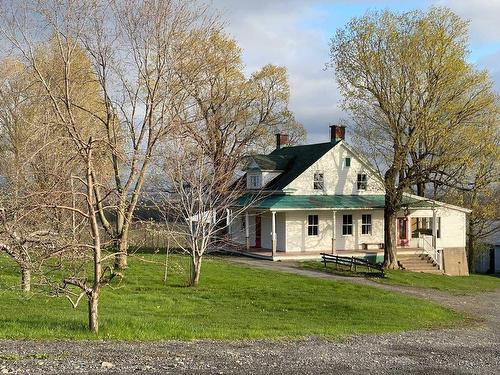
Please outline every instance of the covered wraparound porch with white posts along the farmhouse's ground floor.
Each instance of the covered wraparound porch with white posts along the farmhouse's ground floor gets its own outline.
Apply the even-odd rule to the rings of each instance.
[[[383,195],[269,196],[240,213],[230,236],[239,253],[262,259],[381,258],[383,206]],[[398,253],[433,249],[439,258],[441,217],[432,202],[407,199],[395,224]]]

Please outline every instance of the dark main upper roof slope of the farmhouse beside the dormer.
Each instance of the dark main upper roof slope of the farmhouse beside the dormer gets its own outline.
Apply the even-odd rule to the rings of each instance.
[[[276,161],[279,160],[280,165],[283,166],[281,169],[283,169],[284,172],[267,184],[265,187],[266,190],[284,189],[337,144],[339,144],[339,142],[327,142],[314,145],[283,147],[274,150],[269,155],[265,156],[265,158]]]

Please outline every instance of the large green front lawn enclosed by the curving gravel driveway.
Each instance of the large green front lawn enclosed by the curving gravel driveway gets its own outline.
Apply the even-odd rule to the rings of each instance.
[[[130,259],[120,286],[100,303],[101,339],[339,337],[447,327],[464,315],[436,304],[330,280],[244,268],[207,258],[200,287],[185,287],[187,258],[172,257],[164,285],[162,255]],[[0,256],[0,338],[89,339],[86,305],[13,288],[15,268]]]

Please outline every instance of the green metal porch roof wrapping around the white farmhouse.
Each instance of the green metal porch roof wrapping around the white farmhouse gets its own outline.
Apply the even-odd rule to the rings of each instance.
[[[266,210],[302,209],[364,209],[384,208],[384,195],[269,195],[258,198],[245,195],[238,200],[238,206],[251,204],[252,208]],[[403,204],[419,208],[431,207],[432,203],[404,197]]]

